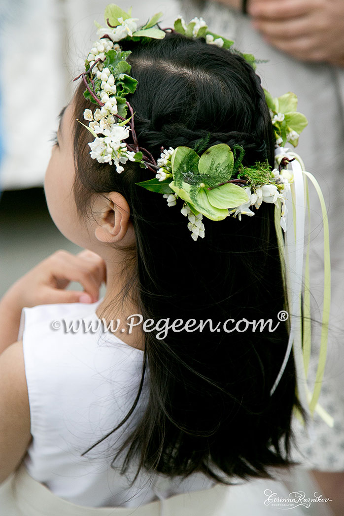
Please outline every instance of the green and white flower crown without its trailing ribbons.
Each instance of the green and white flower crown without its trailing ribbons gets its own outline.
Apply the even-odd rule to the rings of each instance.
[[[194,240],[204,237],[203,216],[210,220],[222,220],[233,215],[253,216],[252,207],[259,208],[262,202],[281,206],[281,226],[286,231],[286,195],[293,181],[292,173],[283,170],[288,159],[282,160],[278,168],[271,169],[268,162],[257,162],[252,167],[242,165],[245,150],[240,146],[231,149],[220,143],[199,154],[188,147],[161,148],[161,156],[155,161],[152,154],[139,146],[137,141],[134,112],[126,100],[135,92],[137,80],[130,76],[127,62],[130,52],[123,52],[119,41],[132,40],[144,43],[148,39],[163,39],[169,31],[192,37],[205,38],[208,44],[231,49],[233,41],[220,37],[208,30],[202,18],[194,18],[187,25],[182,17],[174,22],[173,29],[161,30],[158,21],[162,13],[155,14],[138,29],[136,18],[115,4],[105,9],[106,27],[97,24],[96,41],[86,59],[82,77],[85,97],[98,107],[86,109],[85,127],[94,136],[89,143],[90,155],[99,163],[114,165],[118,173],[123,172],[128,160],[154,172],[149,181],[136,183],[148,190],[161,193],[168,206],[176,205],[181,198],[184,203],[181,213],[188,217],[188,228]],[[231,49],[232,50],[232,49]],[[255,58],[241,54],[253,67]],[[74,80],[76,80],[74,79]],[[297,109],[297,97],[286,93],[273,99],[265,91],[270,110],[276,144],[289,141],[294,147],[307,120]],[[132,134],[133,143],[125,140]]]

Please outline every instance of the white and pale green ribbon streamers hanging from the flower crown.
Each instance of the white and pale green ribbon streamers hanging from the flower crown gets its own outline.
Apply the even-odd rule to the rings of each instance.
[[[281,159],[287,157],[290,163],[294,182],[291,185],[290,192],[287,197],[287,231],[286,240],[282,241],[282,251],[286,267],[286,285],[288,293],[290,331],[288,345],[283,363],[279,374],[272,386],[270,395],[272,396],[279,384],[284,370],[286,368],[291,350],[293,350],[297,379],[298,379],[298,396],[301,404],[309,408],[311,415],[314,411],[323,418],[329,425],[333,426],[333,418],[318,404],[320,396],[321,383],[324,375],[327,337],[330,319],[330,299],[331,299],[331,265],[330,265],[330,239],[329,239],[329,223],[327,220],[325,201],[317,180],[312,174],[304,170],[303,162],[300,156],[290,149],[277,148],[275,151],[275,159],[280,163]],[[322,212],[323,218],[323,234],[324,234],[324,284],[323,284],[323,313],[322,328],[320,338],[319,361],[316,374],[316,381],[313,393],[308,389],[307,373],[311,351],[311,333],[310,333],[310,293],[309,293],[309,243],[310,235],[308,231],[308,243],[306,248],[306,260],[304,257],[305,245],[305,217],[306,208],[309,220],[309,199],[307,179],[314,185]],[[276,208],[278,209],[278,208]],[[291,215],[291,216],[290,216]],[[304,267],[305,261],[305,267]],[[302,320],[303,318],[303,320]],[[302,323],[302,324],[301,324]],[[303,328],[302,328],[303,327]],[[303,331],[302,331],[303,330]]]

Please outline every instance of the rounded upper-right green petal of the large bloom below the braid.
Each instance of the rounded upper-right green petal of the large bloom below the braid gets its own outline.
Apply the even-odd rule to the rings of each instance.
[[[210,176],[225,175],[230,180],[233,172],[234,155],[231,148],[225,143],[219,143],[207,149],[201,156],[198,169],[201,174]],[[222,181],[219,181],[222,182]]]

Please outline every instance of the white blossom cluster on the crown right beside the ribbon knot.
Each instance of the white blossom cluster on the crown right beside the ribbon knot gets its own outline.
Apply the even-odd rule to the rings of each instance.
[[[281,227],[284,231],[286,231],[286,194],[290,190],[290,184],[293,181],[293,176],[292,173],[288,170],[282,170],[279,172],[277,169],[274,169],[272,174],[274,176],[275,184],[269,183],[266,185],[256,185],[252,187],[248,186],[244,188],[245,192],[249,196],[249,201],[231,209],[229,211],[230,215],[233,214],[234,217],[238,217],[239,220],[241,220],[241,215],[248,215],[249,217],[252,217],[254,212],[250,209],[251,206],[259,208],[263,201],[270,204],[277,204],[280,201]]]

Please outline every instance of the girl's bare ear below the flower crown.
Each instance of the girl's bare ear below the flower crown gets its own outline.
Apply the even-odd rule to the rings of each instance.
[[[99,210],[95,237],[104,243],[121,241],[129,228],[130,208],[119,192],[107,194],[104,206]]]

